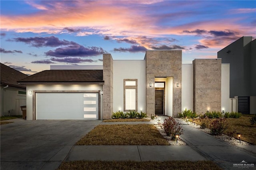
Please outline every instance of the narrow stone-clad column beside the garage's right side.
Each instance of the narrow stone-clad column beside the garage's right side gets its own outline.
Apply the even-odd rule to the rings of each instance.
[[[113,58],[103,54],[103,119],[110,119],[113,112]]]

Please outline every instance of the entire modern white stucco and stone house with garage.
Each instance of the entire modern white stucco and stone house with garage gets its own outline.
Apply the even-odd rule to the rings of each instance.
[[[181,50],[146,51],[144,60],[113,60],[103,66],[51,66],[18,81],[27,87],[27,120],[110,119],[137,110],[177,117],[231,111],[229,64],[195,59],[182,64]]]

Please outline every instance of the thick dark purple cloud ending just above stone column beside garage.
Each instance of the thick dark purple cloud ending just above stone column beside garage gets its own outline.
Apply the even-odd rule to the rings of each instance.
[[[66,47],[59,47],[54,50],[47,51],[45,54],[47,56],[53,57],[70,57],[70,56],[80,56],[80,57],[88,57],[88,56],[96,56],[102,53],[106,53],[102,47],[84,47],[77,43],[73,45],[68,45]]]

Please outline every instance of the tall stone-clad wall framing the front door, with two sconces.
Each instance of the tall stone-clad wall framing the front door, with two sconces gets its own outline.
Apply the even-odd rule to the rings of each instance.
[[[155,114],[155,77],[173,77],[173,117],[181,112],[182,51],[146,51],[146,113]],[[152,83],[152,87],[149,87]],[[176,86],[179,83],[179,87]]]

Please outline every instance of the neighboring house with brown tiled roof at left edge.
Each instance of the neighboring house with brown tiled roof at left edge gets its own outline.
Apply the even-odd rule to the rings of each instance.
[[[18,85],[17,80],[28,75],[0,63],[1,116],[22,115],[20,106],[26,106],[26,86]]]

